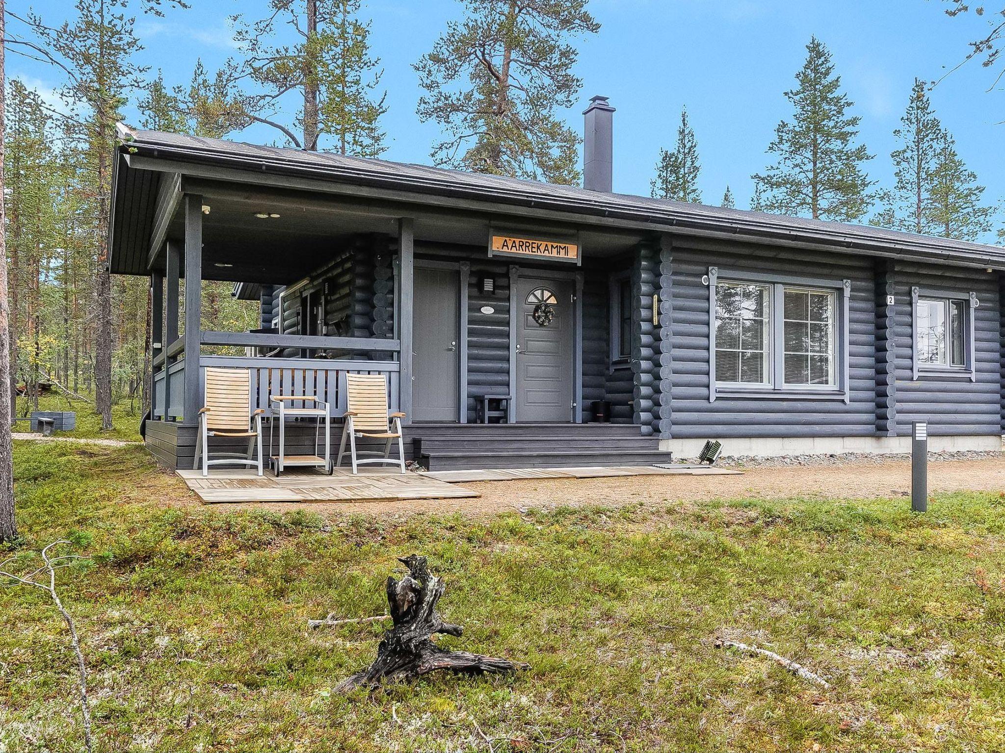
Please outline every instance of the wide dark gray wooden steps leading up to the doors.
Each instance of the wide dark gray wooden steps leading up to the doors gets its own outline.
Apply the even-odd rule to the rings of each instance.
[[[405,434],[430,471],[637,466],[670,461],[628,424],[414,424]]]

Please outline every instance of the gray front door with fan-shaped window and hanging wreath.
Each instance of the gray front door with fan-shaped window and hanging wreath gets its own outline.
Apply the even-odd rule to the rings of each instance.
[[[573,285],[517,281],[517,421],[572,421]]]

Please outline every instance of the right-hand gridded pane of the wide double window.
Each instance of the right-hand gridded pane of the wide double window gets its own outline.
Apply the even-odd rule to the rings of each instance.
[[[834,293],[785,289],[785,384],[836,385]]]

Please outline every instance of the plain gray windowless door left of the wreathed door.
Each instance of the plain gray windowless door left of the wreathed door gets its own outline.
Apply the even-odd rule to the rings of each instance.
[[[412,421],[456,421],[460,278],[416,267],[414,284]]]

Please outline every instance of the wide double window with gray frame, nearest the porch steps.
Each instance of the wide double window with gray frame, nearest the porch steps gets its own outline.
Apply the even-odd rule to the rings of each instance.
[[[712,303],[710,401],[719,395],[850,400],[850,281],[720,276],[710,267],[702,282]]]

